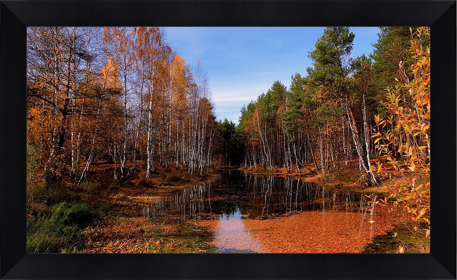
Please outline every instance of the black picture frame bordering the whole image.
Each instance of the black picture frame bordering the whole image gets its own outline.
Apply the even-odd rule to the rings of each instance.
[[[1,279],[456,279],[455,0],[0,2]],[[27,26],[431,26],[431,253],[26,254]]]

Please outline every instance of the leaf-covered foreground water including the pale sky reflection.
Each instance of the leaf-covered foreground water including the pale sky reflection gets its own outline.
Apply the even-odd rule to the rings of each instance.
[[[248,218],[198,223],[214,231],[213,245],[219,248],[263,253],[359,253],[374,236],[392,228],[392,221],[387,216],[382,212],[376,215],[376,225],[364,223],[367,214],[341,212],[305,212],[265,220]]]

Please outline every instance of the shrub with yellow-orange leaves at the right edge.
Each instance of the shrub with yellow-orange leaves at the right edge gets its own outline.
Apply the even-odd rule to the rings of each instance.
[[[428,46],[424,46],[428,42]],[[410,52],[414,78],[387,93],[384,105],[391,116],[375,117],[377,149],[394,166],[387,173],[382,165],[378,173],[390,176],[386,186],[394,207],[403,207],[413,224],[414,236],[430,238],[430,28],[411,30]],[[402,65],[399,65],[402,68]],[[410,226],[411,227],[411,226]],[[409,228],[410,228],[409,227]],[[417,234],[417,235],[416,235]]]

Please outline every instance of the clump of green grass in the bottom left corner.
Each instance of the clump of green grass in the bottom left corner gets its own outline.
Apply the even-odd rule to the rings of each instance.
[[[27,253],[75,252],[80,231],[98,216],[86,202],[61,202],[47,214],[27,220]]]

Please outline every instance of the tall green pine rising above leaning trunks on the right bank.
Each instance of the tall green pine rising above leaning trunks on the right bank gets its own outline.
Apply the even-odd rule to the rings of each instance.
[[[349,27],[327,27],[324,34],[317,40],[315,49],[309,53],[313,60],[314,67],[308,67],[310,84],[321,100],[321,120],[326,127],[319,127],[319,139],[329,138],[332,128],[328,124],[335,123],[338,119],[339,109],[345,111],[346,120],[351,128],[351,135],[354,146],[359,156],[361,170],[367,174],[367,182],[377,182],[376,176],[372,173],[369,157],[369,143],[365,140],[368,135],[368,128],[365,121],[357,118],[355,104],[351,100],[351,67],[350,59],[354,33]],[[335,106],[336,105],[336,106]],[[341,112],[341,111],[340,111]],[[332,114],[333,113],[333,114]],[[324,130],[324,132],[323,132]],[[327,141],[329,143],[330,140]],[[320,140],[322,143],[322,140]],[[329,165],[329,144],[319,146],[320,161],[322,169]]]

